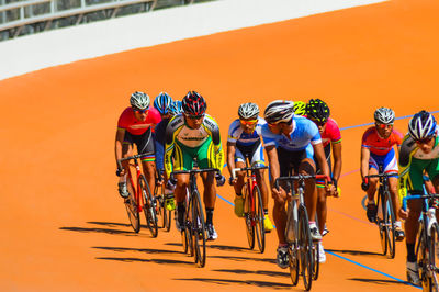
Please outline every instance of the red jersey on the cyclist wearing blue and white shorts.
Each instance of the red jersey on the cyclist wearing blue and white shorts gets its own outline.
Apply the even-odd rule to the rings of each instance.
[[[399,146],[403,142],[403,134],[399,131],[393,128],[391,135],[383,139],[378,134],[374,126],[369,127],[361,141],[361,147],[369,148],[371,153],[375,155],[386,155],[393,147],[393,145]]]

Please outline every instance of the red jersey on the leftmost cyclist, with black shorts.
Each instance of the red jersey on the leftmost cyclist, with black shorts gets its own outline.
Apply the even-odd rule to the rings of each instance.
[[[126,108],[119,117],[117,127],[124,128],[133,135],[142,135],[149,127],[154,128],[158,123],[160,123],[160,113],[154,108],[149,108],[148,115],[146,116],[145,121],[138,121],[134,116],[133,109],[130,106]]]

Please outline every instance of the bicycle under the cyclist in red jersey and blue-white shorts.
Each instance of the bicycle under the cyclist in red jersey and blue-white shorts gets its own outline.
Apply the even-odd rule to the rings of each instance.
[[[389,257],[391,259],[395,258],[396,254],[396,235],[395,235],[395,221],[396,216],[394,213],[391,192],[389,190],[389,177],[395,175],[383,173],[382,167],[380,166],[379,175],[370,175],[364,178],[379,178],[380,187],[378,189],[376,198],[376,225],[380,232],[381,247],[383,249],[383,255],[385,256],[389,251]]]

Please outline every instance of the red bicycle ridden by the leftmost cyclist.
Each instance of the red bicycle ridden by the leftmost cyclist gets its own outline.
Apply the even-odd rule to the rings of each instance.
[[[136,184],[134,184],[131,170],[127,169],[126,189],[130,193],[128,198],[125,199],[126,213],[128,214],[131,226],[135,233],[140,231],[140,216],[139,213],[145,213],[146,224],[149,228],[151,236],[157,237],[157,216],[155,200],[151,196],[148,182],[146,181],[145,175],[142,173],[138,164],[138,158],[142,155],[133,155],[122,159],[117,159],[117,175],[122,171],[122,161],[133,160],[136,169]],[[133,166],[133,165],[131,165]]]

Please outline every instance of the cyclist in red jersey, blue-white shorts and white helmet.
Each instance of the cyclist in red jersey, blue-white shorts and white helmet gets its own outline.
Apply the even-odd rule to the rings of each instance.
[[[363,182],[361,188],[368,193],[367,216],[370,222],[376,221],[378,207],[375,204],[375,191],[378,178],[364,178],[367,175],[376,175],[380,167],[384,173],[391,175],[389,178],[389,189],[391,192],[392,204],[396,217],[395,236],[396,240],[404,239],[404,231],[399,221],[397,210],[399,210],[399,201],[397,200],[397,160],[394,145],[398,150],[403,139],[403,135],[393,127],[395,113],[392,109],[380,108],[374,112],[375,125],[369,127],[361,141],[361,177]]]

